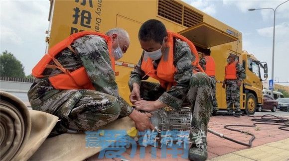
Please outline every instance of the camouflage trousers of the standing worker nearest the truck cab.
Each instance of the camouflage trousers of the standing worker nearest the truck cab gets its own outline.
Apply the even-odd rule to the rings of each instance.
[[[233,113],[233,104],[235,112],[241,114],[240,110],[240,87],[237,80],[226,80],[226,102],[228,113]]]

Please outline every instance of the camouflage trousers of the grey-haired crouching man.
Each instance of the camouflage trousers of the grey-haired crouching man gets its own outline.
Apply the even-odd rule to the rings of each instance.
[[[32,109],[56,115],[61,119],[51,132],[51,136],[96,131],[127,115],[127,111],[121,110],[123,105],[128,105],[126,101],[96,90],[60,90],[41,101],[31,96],[29,98],[32,99],[30,99]]]

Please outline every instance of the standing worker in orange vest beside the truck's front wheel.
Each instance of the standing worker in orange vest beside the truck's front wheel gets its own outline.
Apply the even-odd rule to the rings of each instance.
[[[235,117],[240,117],[242,115],[240,110],[240,86],[242,85],[242,81],[246,78],[246,73],[243,66],[236,60],[236,55],[229,55],[227,62],[227,67],[231,65],[233,66],[231,68],[234,68],[234,70],[225,70],[225,80],[223,82],[223,88],[226,87],[227,115],[233,114],[234,104]],[[230,76],[233,77],[230,78]],[[226,79],[226,77],[228,78]]]

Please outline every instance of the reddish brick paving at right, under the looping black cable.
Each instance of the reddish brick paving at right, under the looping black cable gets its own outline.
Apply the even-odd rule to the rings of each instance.
[[[250,135],[230,131],[224,129],[223,127],[224,125],[229,124],[253,125],[253,123],[257,123],[251,121],[251,119],[252,117],[246,116],[240,118],[234,118],[229,116],[215,116],[211,118],[209,122],[209,128],[214,131],[220,132],[227,137],[240,140],[243,143],[248,143],[248,141],[251,139]],[[279,126],[277,125],[257,125],[257,127],[234,127],[234,129],[239,129],[254,134],[256,136],[256,139],[253,141],[252,147],[257,147],[267,143],[272,143],[289,138],[289,131],[280,130],[278,129],[278,127]],[[209,159],[244,149],[248,149],[249,151],[251,151],[252,148],[245,147],[225,139],[221,139],[213,134],[208,133]]]

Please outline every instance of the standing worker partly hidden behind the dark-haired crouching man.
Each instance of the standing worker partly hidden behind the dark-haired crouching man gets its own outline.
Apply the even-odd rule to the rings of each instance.
[[[212,111],[212,114],[214,116],[216,116],[218,114],[219,108],[218,108],[218,102],[216,99],[215,61],[214,60],[211,61],[211,59],[213,59],[213,57],[211,57],[211,50],[210,49],[205,49],[203,53],[204,54],[203,54],[202,58],[200,59],[199,64],[202,67],[202,69],[205,71],[205,73],[213,81],[213,111]],[[208,59],[208,57],[209,57],[209,59]],[[211,61],[211,62],[208,62],[208,64],[210,63],[210,66],[208,66],[209,68],[211,68],[211,69],[208,69],[210,71],[208,71],[206,69],[206,66],[208,65],[206,59]]]

